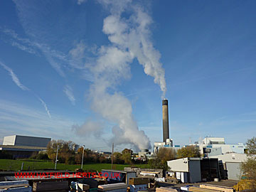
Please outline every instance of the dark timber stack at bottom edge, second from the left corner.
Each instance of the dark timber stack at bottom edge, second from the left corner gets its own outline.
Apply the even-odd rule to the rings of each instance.
[[[66,192],[68,191],[68,181],[34,182],[33,191]]]

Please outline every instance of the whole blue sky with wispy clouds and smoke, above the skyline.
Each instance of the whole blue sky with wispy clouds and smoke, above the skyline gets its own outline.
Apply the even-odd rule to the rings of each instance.
[[[256,135],[256,1],[0,1],[0,143],[100,151]]]

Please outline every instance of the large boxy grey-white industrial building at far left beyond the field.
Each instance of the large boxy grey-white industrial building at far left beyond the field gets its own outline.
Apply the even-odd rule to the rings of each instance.
[[[11,154],[13,158],[28,158],[34,153],[46,150],[50,138],[11,135],[4,137],[0,151]]]

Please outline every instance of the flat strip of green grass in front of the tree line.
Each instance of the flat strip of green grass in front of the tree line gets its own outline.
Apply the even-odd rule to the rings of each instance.
[[[41,169],[54,169],[55,164],[50,161],[22,161],[22,160],[10,160],[0,159],[0,169],[4,171],[18,171],[21,170],[21,164],[23,164],[23,170],[41,170]],[[124,167],[131,165],[114,164],[114,169],[123,170]],[[141,168],[149,168],[147,164],[136,164],[134,166]],[[68,164],[57,164],[58,170],[70,170],[81,168],[81,165],[68,165]],[[111,164],[83,164],[84,170],[97,170],[111,169]]]

